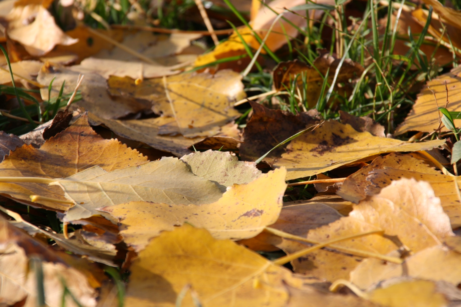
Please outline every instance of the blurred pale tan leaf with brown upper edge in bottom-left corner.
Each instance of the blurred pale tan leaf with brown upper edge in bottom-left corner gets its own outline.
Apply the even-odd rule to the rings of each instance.
[[[84,306],[96,306],[97,293],[93,289],[82,268],[70,267],[53,251],[47,249],[32,237],[11,226],[0,217],[0,302],[12,306],[25,299],[24,306],[36,306],[35,272],[29,268],[29,257],[41,255],[43,259],[43,282],[47,305],[61,306],[64,280],[67,288]],[[87,272],[88,273],[88,272]],[[77,307],[69,295],[65,298],[66,306]]]

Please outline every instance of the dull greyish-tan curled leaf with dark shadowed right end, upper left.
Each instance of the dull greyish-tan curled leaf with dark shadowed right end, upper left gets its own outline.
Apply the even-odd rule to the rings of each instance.
[[[50,84],[54,78],[51,98],[55,98],[58,96],[64,81],[63,93],[73,93],[77,85],[78,75],[78,72],[70,69],[45,64],[38,74],[37,81],[41,84]],[[102,118],[115,119],[150,109],[148,102],[109,96],[106,79],[98,74],[85,74],[79,90],[82,93],[82,100],[71,104],[71,110],[80,106]],[[40,93],[43,100],[48,100],[48,88],[41,88]]]

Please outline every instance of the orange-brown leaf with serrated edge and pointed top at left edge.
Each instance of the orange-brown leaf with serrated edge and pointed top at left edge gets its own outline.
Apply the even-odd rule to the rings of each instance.
[[[99,165],[106,171],[148,162],[138,151],[127,148],[117,140],[103,139],[89,126],[83,115],[70,127],[48,139],[40,149],[23,145],[0,163],[3,177],[65,178]],[[39,183],[0,183],[0,193],[21,201],[30,195],[66,200],[58,186]],[[38,201],[47,208],[66,210],[69,205]]]

